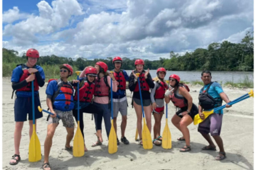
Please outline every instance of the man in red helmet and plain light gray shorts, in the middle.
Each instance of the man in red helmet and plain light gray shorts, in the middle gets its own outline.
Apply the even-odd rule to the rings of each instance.
[[[121,57],[113,58],[114,65],[114,76],[116,81],[119,83],[117,86],[117,92],[113,92],[113,124],[115,131],[117,129],[116,119],[118,112],[122,115],[122,123],[121,123],[121,142],[124,144],[129,144],[129,141],[124,136],[126,123],[127,123],[127,98],[126,98],[126,81],[129,81],[129,76],[125,70],[121,70],[121,66],[123,64],[123,60]],[[116,131],[117,134],[117,131]],[[117,144],[119,145],[119,140],[117,138]]]

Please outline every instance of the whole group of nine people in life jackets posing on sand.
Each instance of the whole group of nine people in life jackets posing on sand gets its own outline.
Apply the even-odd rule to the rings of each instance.
[[[15,154],[10,160],[11,165],[16,165],[20,161],[19,146],[21,140],[21,131],[24,121],[29,119],[29,136],[31,138],[33,130],[32,121],[32,88],[31,82],[34,81],[34,105],[35,108],[41,106],[39,100],[39,87],[45,84],[45,75],[43,68],[36,65],[39,58],[39,52],[31,48],[26,53],[27,62],[17,65],[12,72],[12,88],[16,94],[14,104],[15,130],[14,130],[14,147]],[[129,89],[133,92],[132,106],[135,109],[137,116],[137,130],[139,134],[139,144],[142,145],[142,106],[140,99],[140,91],[142,94],[142,104],[145,112],[145,119],[148,129],[151,132],[151,114],[155,119],[153,127],[154,138],[153,143],[157,146],[161,145],[162,136],[161,119],[164,114],[164,102],[170,101],[178,109],[172,117],[173,125],[178,128],[183,136],[178,138],[180,141],[185,141],[186,144],[180,149],[181,152],[191,150],[190,135],[188,125],[193,122],[196,114],[199,113],[201,119],[204,118],[203,111],[212,110],[222,104],[222,100],[226,103],[230,102],[227,95],[223,92],[220,84],[211,81],[211,72],[203,71],[201,79],[204,82],[204,87],[200,90],[199,106],[193,103],[193,99],[189,94],[189,87],[180,82],[180,77],[176,74],[169,76],[169,84],[164,81],[166,76],[165,68],[157,69],[157,75],[152,78],[149,69],[144,70],[144,61],[142,59],[135,60],[135,70],[128,76],[125,70],[122,70],[123,60],[121,57],[113,58],[114,70],[108,72],[108,66],[104,62],[97,62],[95,66],[87,66],[81,72],[79,80],[68,81],[68,77],[73,74],[73,68],[69,64],[60,65],[60,78],[50,79],[46,88],[46,104],[52,115],[47,118],[47,136],[44,142],[44,163],[43,169],[51,169],[49,164],[49,154],[52,146],[52,138],[59,121],[62,120],[63,126],[67,130],[65,150],[72,151],[70,142],[74,136],[74,119],[77,120],[80,116],[80,129],[84,137],[83,129],[83,113],[91,113],[94,116],[95,130],[97,140],[93,143],[94,146],[101,145],[102,137],[102,119],[104,119],[107,137],[111,128],[111,110],[110,110],[110,94],[111,94],[111,79],[113,91],[113,125],[117,132],[117,116],[120,112],[122,115],[121,123],[121,142],[129,144],[125,137],[125,129],[127,124],[127,97],[126,97],[126,81],[129,81]],[[136,74],[139,73],[139,74]],[[138,75],[138,76],[137,76]],[[138,83],[138,78],[139,82]],[[79,83],[79,96],[77,95],[77,83]],[[140,86],[140,88],[139,88]],[[139,90],[140,89],[140,90]],[[75,91],[75,93],[74,93]],[[79,99],[79,101],[78,101]],[[79,109],[77,108],[79,102]],[[226,107],[231,107],[226,105]],[[57,117],[58,115],[58,117]],[[219,146],[220,152],[216,156],[216,160],[222,160],[226,157],[223,148],[223,142],[220,137],[222,125],[223,111],[218,111],[207,117],[198,126],[198,131],[208,141],[209,145],[203,147],[203,150],[216,150],[209,133],[215,139]],[[35,119],[42,118],[42,112],[35,109]],[[36,121],[35,121],[36,123]],[[117,144],[120,141],[117,137]],[[87,148],[84,144],[84,150]]]

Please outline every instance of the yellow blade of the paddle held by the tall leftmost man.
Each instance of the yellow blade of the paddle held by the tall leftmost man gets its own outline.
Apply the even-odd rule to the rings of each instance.
[[[37,162],[42,159],[41,156],[41,145],[40,141],[36,134],[36,126],[33,125],[33,132],[32,136],[29,142],[29,148],[28,148],[28,161],[29,162]]]

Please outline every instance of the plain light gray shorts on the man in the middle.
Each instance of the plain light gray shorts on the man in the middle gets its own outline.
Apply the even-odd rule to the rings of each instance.
[[[119,101],[119,102],[118,102]],[[122,116],[127,115],[127,98],[125,97],[124,99],[113,99],[113,115],[114,118],[117,117],[118,112],[121,113]]]

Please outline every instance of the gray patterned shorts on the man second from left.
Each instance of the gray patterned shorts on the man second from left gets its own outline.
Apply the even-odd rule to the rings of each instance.
[[[71,111],[67,111],[67,112],[63,112],[63,111],[59,111],[59,110],[55,110],[54,112],[60,117],[49,117],[48,119],[48,125],[52,124],[52,123],[56,123],[59,124],[59,121],[62,120],[63,126],[66,128],[74,128],[75,127],[75,123],[74,123],[74,118],[73,118],[73,113],[72,110]]]

